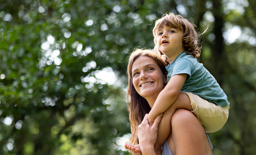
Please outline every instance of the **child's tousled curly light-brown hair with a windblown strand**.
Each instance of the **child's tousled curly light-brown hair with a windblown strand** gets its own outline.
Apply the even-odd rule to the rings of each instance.
[[[166,13],[162,16],[162,18],[158,19],[155,22],[155,26],[153,29],[154,35],[154,50],[156,53],[160,55],[164,55],[157,46],[156,38],[158,36],[158,31],[163,27],[163,25],[170,26],[173,28],[178,28],[183,32],[183,47],[185,52],[193,57],[199,57],[201,54],[202,46],[198,46],[198,36],[194,27],[195,25],[189,22],[187,19],[183,18],[181,15],[175,15],[173,13]],[[207,29],[206,29],[207,30]],[[206,32],[205,30],[205,32]],[[204,32],[204,33],[205,33]],[[203,33],[202,33],[203,34]]]

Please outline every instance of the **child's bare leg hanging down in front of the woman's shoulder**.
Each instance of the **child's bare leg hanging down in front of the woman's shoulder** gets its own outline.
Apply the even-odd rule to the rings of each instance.
[[[175,100],[175,102],[164,112],[164,116],[159,123],[157,140],[154,146],[157,155],[161,154],[161,146],[171,133],[171,119],[177,109],[186,109],[188,111],[192,111],[190,99],[184,92],[180,92],[177,100]]]

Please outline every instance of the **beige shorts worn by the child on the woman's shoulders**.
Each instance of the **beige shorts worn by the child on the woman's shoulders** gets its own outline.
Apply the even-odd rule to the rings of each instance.
[[[230,106],[221,107],[218,104],[208,102],[198,95],[185,92],[190,99],[192,113],[202,123],[205,132],[213,133],[220,130],[227,122]]]

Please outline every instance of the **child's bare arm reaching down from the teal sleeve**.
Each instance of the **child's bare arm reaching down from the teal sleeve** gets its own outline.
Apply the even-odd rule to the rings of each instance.
[[[165,112],[178,98],[187,76],[187,74],[177,74],[170,78],[166,87],[159,93],[151,111],[149,112],[149,124],[152,124],[156,116]]]

